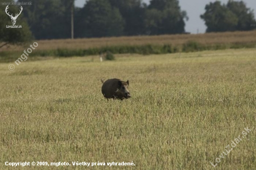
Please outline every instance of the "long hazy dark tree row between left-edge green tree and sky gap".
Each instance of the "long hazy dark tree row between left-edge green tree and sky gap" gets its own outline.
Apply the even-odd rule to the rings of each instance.
[[[70,38],[74,0],[31,1],[23,14],[36,39]],[[178,0],[87,0],[74,8],[74,38],[184,33],[186,18]]]

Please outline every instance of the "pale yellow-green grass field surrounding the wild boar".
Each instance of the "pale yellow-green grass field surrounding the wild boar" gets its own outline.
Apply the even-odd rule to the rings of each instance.
[[[40,48],[49,48],[45,42]],[[90,45],[71,48],[83,46]],[[256,49],[116,58],[27,60],[12,72],[13,63],[0,63],[0,169],[41,161],[71,165],[29,168],[256,170]],[[132,98],[104,99],[101,78],[129,79]],[[243,140],[222,154],[239,135]]]

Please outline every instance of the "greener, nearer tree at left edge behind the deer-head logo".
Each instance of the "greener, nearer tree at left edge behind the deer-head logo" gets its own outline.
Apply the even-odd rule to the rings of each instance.
[[[5,0],[0,0],[0,2],[6,2]],[[7,5],[0,6],[0,48],[8,44],[22,44],[30,41],[33,37],[29,30],[26,20],[23,18],[23,14],[20,13],[16,20],[16,26],[22,26],[22,28],[7,28],[7,25],[12,25],[10,17],[5,13]],[[13,16],[15,13],[19,13],[20,7],[18,6],[8,6],[8,12]]]

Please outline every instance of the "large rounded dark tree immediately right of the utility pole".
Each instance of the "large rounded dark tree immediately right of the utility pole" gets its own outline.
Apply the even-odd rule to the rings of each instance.
[[[80,37],[109,37],[123,35],[124,20],[108,0],[88,0],[81,9],[78,26]]]

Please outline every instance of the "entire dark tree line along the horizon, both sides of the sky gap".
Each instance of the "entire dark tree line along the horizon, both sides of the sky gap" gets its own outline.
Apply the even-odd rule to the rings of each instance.
[[[150,0],[149,5],[142,0],[87,0],[82,8],[74,7],[74,0],[30,1],[32,5],[23,6],[17,20],[22,29],[3,27],[11,22],[6,6],[0,6],[0,42],[70,38],[72,10],[74,38],[185,33],[185,20],[189,20],[179,0]],[[18,13],[19,6],[8,10]],[[256,29],[254,12],[243,1],[210,2],[200,17],[206,32]]]

